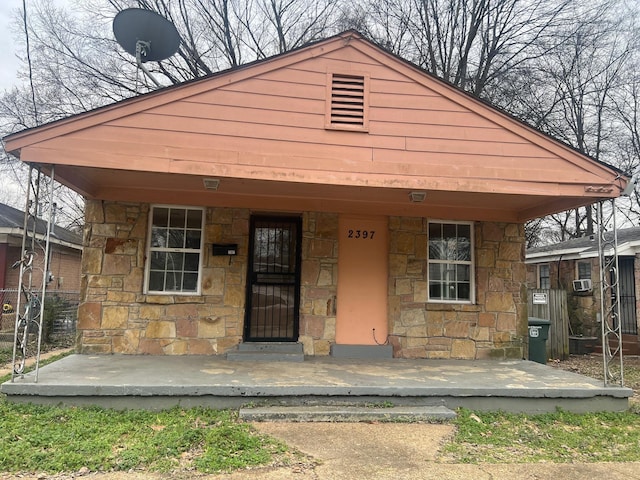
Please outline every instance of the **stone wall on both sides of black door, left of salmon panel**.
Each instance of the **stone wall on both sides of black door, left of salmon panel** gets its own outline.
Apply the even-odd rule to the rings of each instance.
[[[82,353],[223,354],[242,340],[250,211],[208,208],[202,295],[144,295],[149,205],[88,200],[78,349]],[[303,216],[300,341],[335,339],[337,215]],[[213,256],[212,243],[238,255]]]

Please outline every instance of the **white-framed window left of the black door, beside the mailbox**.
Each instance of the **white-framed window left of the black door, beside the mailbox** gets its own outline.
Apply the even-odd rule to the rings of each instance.
[[[149,216],[145,292],[199,294],[203,209],[154,205]]]

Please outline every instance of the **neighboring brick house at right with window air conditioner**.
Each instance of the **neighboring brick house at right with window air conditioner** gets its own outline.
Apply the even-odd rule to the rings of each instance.
[[[612,232],[607,232],[607,241]],[[637,343],[640,286],[640,227],[618,230],[621,330]],[[606,253],[606,252],[605,252]],[[531,248],[526,253],[530,288],[566,290],[569,322],[575,335],[599,336],[600,266],[597,236]],[[635,339],[633,338],[635,336]]]

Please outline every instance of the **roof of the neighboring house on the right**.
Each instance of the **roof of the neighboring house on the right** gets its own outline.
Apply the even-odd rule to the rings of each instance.
[[[618,255],[635,255],[640,253],[640,227],[619,229]],[[613,240],[613,232],[605,232],[606,242]],[[597,235],[572,238],[564,242],[530,248],[526,252],[527,263],[545,263],[559,260],[575,260],[595,258],[598,253]]]

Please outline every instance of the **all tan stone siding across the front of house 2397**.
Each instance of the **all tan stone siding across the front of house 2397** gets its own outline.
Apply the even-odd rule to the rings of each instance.
[[[248,209],[207,208],[201,295],[145,295],[149,205],[87,201],[78,315],[82,353],[224,354],[242,341]],[[307,355],[335,343],[338,214],[302,219],[300,336]],[[526,338],[524,227],[475,226],[477,302],[427,302],[427,220],[389,221],[389,325],[405,358],[521,358]],[[213,256],[212,243],[238,244]]]

